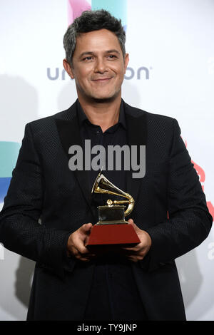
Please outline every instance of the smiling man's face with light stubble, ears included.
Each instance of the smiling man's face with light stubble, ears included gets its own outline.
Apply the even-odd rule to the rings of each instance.
[[[121,94],[128,66],[118,38],[106,29],[81,33],[76,38],[72,68],[64,60],[66,71],[76,81],[78,97],[84,100],[116,98]]]

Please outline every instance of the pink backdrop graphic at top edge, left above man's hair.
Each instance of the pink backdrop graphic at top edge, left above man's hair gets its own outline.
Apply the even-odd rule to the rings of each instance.
[[[86,0],[68,0],[68,26],[81,16],[83,11],[90,11],[91,4]]]

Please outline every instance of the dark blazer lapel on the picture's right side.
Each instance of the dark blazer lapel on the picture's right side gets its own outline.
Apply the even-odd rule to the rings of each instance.
[[[142,110],[135,111],[130,105],[124,103],[126,113],[126,125],[128,128],[128,145],[146,145],[146,113]],[[145,158],[146,159],[146,158]],[[146,165],[146,162],[145,162]],[[130,164],[131,166],[131,164]],[[138,198],[139,187],[143,178],[133,178],[133,170],[127,171],[127,192],[135,201]]]

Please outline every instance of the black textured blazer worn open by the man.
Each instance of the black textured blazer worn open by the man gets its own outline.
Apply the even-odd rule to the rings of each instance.
[[[184,320],[174,259],[208,236],[213,218],[178,122],[124,103],[129,145],[146,145],[146,175],[127,192],[131,218],[151,235],[145,259],[133,263],[148,319]],[[0,242],[36,262],[29,320],[81,320],[93,280],[93,262],[66,257],[68,236],[97,222],[87,172],[68,168],[68,148],[81,145],[76,103],[25,128],[19,158],[0,213]]]

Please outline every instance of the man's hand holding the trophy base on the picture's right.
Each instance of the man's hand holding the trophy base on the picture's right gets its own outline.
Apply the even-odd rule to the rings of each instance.
[[[151,248],[151,237],[149,236],[148,232],[138,228],[132,219],[128,220],[128,224],[133,226],[139,239],[141,240],[141,243],[138,243],[135,247],[131,248],[123,247],[123,250],[125,250],[125,254],[128,259],[133,262],[138,262],[146,256],[149,249]]]

